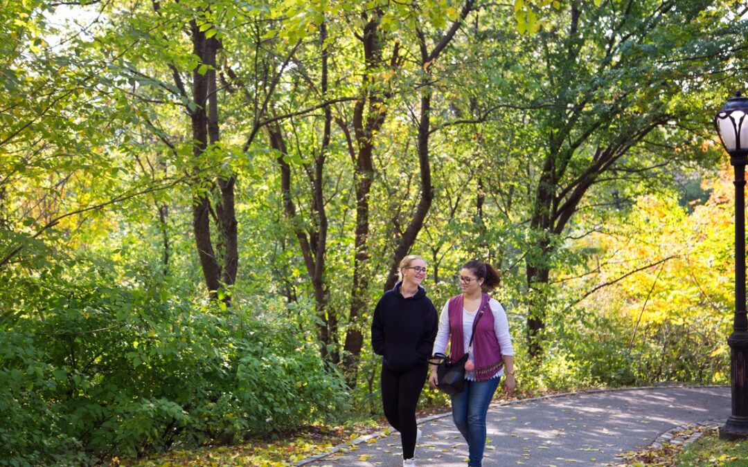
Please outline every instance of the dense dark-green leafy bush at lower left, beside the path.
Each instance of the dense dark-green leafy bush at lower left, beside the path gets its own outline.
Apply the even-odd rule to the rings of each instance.
[[[282,312],[183,300],[147,265],[119,283],[108,261],[69,266],[67,279],[39,275],[34,300],[1,296],[19,318],[0,329],[0,464],[237,442],[346,406],[340,374]]]

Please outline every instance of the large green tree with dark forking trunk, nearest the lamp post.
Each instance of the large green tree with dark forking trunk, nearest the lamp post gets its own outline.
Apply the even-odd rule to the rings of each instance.
[[[525,123],[524,140],[512,152],[529,162],[533,180],[530,206],[517,206],[529,221],[532,355],[541,351],[554,254],[574,215],[616,205],[616,187],[654,188],[668,177],[662,167],[701,158],[693,148],[711,137],[705,99],[715,96],[717,108],[735,85],[730,70],[741,67],[734,53],[746,23],[723,21],[731,17],[712,1],[571,1],[521,40],[532,52],[512,55],[517,64],[496,86],[497,95],[511,87],[527,102],[515,119]]]

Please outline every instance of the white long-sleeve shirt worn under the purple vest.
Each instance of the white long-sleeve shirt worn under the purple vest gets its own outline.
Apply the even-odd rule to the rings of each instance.
[[[506,318],[506,312],[504,307],[501,306],[497,300],[491,298],[488,301],[488,308],[491,309],[491,313],[494,315],[494,334],[496,340],[501,347],[501,354],[506,356],[514,356],[514,348],[512,347],[512,336],[509,335],[509,320]],[[468,351],[468,344],[470,343],[470,337],[473,335],[473,321],[475,321],[478,315],[478,310],[474,312],[468,312],[465,308],[462,309],[462,338],[465,340],[462,343],[462,348]],[[481,318],[483,319],[483,318]],[[439,330],[436,334],[436,340],[434,341],[434,353],[445,353],[447,350],[447,343],[450,341],[450,301],[444,303],[444,308],[441,309],[441,315],[439,316]],[[470,352],[470,362],[475,365],[475,359],[473,352]],[[504,373],[503,368],[492,378],[500,377]],[[466,371],[465,379],[475,381],[475,371]]]

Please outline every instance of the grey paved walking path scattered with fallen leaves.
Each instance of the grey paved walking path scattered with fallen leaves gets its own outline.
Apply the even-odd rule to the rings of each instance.
[[[685,424],[724,421],[728,387],[662,387],[582,392],[494,403],[488,410],[484,467],[616,466],[616,455],[646,448]],[[417,465],[465,466],[468,445],[450,413],[419,421]],[[354,443],[352,443],[354,444]],[[343,452],[345,451],[345,452]],[[370,436],[305,466],[402,466],[399,433]]]

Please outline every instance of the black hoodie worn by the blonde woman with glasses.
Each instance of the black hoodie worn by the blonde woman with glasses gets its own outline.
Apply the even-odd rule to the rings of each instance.
[[[382,365],[392,371],[409,371],[426,367],[439,319],[425,288],[419,285],[413,297],[405,298],[400,285],[384,292],[374,309],[372,347],[384,357]]]

